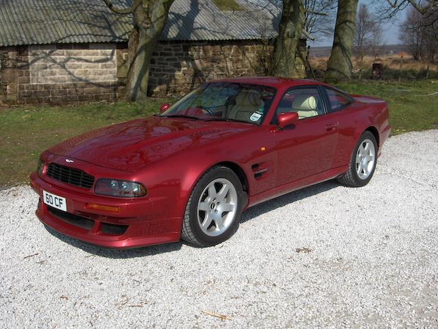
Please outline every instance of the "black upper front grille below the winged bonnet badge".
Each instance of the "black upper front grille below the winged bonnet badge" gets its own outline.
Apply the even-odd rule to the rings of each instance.
[[[94,177],[88,173],[53,162],[47,165],[46,175],[54,180],[87,189],[91,188],[94,183]]]

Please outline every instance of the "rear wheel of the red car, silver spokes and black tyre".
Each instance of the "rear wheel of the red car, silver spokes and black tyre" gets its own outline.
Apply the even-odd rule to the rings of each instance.
[[[345,186],[360,187],[369,183],[377,162],[376,137],[365,131],[356,143],[348,164],[348,170],[336,180]]]

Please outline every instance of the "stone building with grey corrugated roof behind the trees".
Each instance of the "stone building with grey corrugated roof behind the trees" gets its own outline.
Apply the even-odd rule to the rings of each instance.
[[[151,60],[151,95],[268,74],[280,10],[267,0],[235,2],[237,10],[216,1],[174,2]],[[122,94],[132,16],[111,12],[102,0],[2,0],[0,13],[0,103],[114,101]],[[296,67],[304,77],[300,59]]]

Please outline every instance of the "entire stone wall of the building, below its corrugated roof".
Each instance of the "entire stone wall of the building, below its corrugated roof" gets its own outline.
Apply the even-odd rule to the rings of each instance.
[[[0,103],[115,101],[128,72],[127,45],[0,47]],[[300,45],[305,51],[305,42]],[[272,46],[260,41],[160,42],[150,95],[181,95],[222,77],[269,75]],[[296,77],[306,70],[297,58]]]

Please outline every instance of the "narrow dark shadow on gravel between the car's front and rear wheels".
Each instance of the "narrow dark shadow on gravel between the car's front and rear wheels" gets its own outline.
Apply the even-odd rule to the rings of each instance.
[[[285,195],[281,195],[276,197],[275,199],[270,199],[262,204],[257,204],[257,206],[253,206],[246,210],[242,214],[242,219],[240,223],[244,223],[253,219],[255,217],[259,217],[266,212],[270,212],[271,210],[286,206],[288,204],[292,204],[292,202],[299,201],[301,199],[306,199],[306,197],[312,197],[313,195],[317,195],[319,193],[323,193],[325,191],[330,191],[332,188],[338,187],[339,184],[335,180],[328,180],[327,182],[322,182],[316,185],[308,186],[306,188],[301,188],[300,190],[290,192]]]

